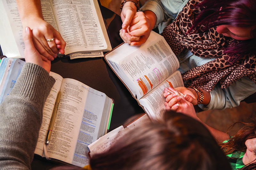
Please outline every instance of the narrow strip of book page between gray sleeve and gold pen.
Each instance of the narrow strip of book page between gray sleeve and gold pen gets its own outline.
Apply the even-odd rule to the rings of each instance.
[[[36,150],[34,152],[35,154],[40,156],[43,156],[44,153],[44,143],[46,140],[46,135],[51,122],[54,104],[57,99],[58,92],[60,91],[60,86],[63,79],[59,74],[53,72],[50,72],[50,76],[52,76],[56,80],[56,82],[54,83],[50,94],[48,95],[44,103],[42,124],[39,130]]]

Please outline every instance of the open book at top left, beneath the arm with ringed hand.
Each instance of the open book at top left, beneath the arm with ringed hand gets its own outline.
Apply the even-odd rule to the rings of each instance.
[[[97,0],[41,0],[44,20],[60,32],[70,59],[103,56],[111,50]],[[0,44],[4,55],[24,58],[22,24],[16,1],[0,1]]]

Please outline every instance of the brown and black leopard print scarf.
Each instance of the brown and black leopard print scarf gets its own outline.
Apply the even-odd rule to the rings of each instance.
[[[185,86],[197,86],[206,91],[212,91],[220,82],[221,88],[226,88],[236,80],[247,76],[256,84],[256,56],[246,55],[232,65],[229,56],[223,54],[223,48],[237,40],[217,33],[216,27],[208,31],[198,29],[197,33],[186,35],[193,25],[194,17],[200,12],[190,9],[190,6],[202,0],[190,0],[180,12],[175,21],[164,28],[162,35],[173,52],[177,55],[185,48],[200,57],[216,57],[208,63],[192,68],[182,74]]]

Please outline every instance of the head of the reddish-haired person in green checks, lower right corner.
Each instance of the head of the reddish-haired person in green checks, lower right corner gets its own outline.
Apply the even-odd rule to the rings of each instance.
[[[226,154],[234,151],[245,152],[243,170],[256,169],[256,121],[253,123],[242,123],[244,126],[236,133],[232,140],[222,143],[222,150]]]

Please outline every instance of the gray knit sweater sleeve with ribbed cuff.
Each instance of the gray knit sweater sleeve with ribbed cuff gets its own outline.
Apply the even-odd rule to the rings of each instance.
[[[31,169],[44,102],[54,83],[42,67],[24,64],[0,105],[0,169]]]

